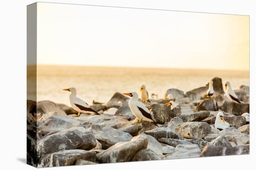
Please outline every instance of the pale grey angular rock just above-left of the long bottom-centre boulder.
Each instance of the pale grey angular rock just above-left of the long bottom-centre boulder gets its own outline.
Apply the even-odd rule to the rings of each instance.
[[[102,149],[108,149],[118,142],[125,142],[132,139],[132,135],[112,127],[95,128],[92,126],[94,137],[101,143]]]

